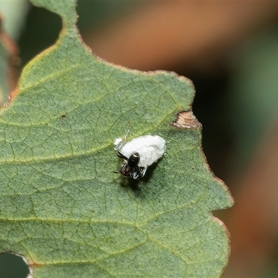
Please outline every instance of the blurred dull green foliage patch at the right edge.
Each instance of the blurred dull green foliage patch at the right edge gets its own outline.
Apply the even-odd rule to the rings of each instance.
[[[234,56],[231,74],[231,120],[238,144],[237,158],[246,158],[277,120],[278,28],[256,35]],[[243,165],[243,164],[242,164]]]

